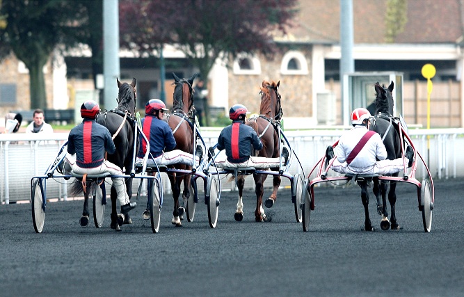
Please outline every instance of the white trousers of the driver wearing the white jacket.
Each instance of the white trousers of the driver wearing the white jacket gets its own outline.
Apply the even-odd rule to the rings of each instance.
[[[408,158],[406,159],[406,166],[409,162]],[[396,172],[400,172],[404,168],[404,163],[402,158],[394,160],[381,160],[376,161],[373,166],[367,168],[355,168],[349,166],[348,163],[340,163],[337,159],[333,162],[332,170],[335,172],[343,174],[352,174],[352,175],[391,175]]]

